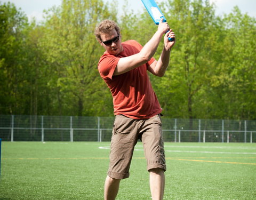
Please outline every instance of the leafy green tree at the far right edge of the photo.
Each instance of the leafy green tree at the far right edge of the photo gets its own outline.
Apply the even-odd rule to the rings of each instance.
[[[238,7],[221,19],[221,45],[211,80],[215,116],[255,119],[256,23]]]

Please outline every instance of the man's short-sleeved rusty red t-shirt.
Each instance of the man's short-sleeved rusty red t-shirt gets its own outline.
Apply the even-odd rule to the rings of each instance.
[[[124,51],[118,55],[107,52],[102,55],[98,63],[100,76],[112,94],[115,115],[148,119],[162,111],[147,74],[147,66],[151,65],[155,59],[151,58],[148,63],[140,67],[113,76],[120,58],[137,54],[142,49],[142,46],[133,40],[123,42],[122,45]]]

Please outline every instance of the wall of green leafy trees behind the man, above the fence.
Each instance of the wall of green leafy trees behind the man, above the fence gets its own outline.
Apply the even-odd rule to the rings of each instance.
[[[45,11],[40,23],[28,23],[14,4],[0,3],[0,113],[112,116],[111,95],[97,69],[104,50],[95,26],[115,20],[122,41],[142,45],[157,29],[146,9],[134,13],[125,1],[118,14],[117,3],[64,0]],[[255,18],[238,7],[217,17],[207,0],[166,0],[159,6],[177,38],[165,76],[149,75],[163,114],[256,119]]]

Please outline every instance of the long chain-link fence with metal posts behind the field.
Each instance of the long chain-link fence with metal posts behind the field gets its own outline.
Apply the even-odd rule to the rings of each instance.
[[[114,117],[0,115],[3,141],[110,141]],[[165,141],[256,142],[256,121],[162,118]]]

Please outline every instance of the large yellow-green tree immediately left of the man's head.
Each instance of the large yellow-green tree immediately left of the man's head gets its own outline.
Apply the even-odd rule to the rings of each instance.
[[[107,90],[97,69],[103,50],[94,28],[106,18],[116,20],[116,10],[101,0],[64,0],[61,7],[46,12],[40,46],[51,68],[48,85],[55,91],[59,115],[95,115],[92,108],[104,107],[97,105]]]

